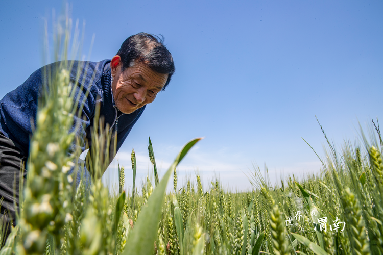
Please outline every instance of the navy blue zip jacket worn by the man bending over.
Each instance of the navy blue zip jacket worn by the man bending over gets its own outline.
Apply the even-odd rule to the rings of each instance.
[[[46,70],[49,70],[52,75],[57,66],[58,63],[53,63],[38,69],[23,84],[0,100],[0,131],[6,137],[21,145],[25,155],[29,155],[29,142],[32,130],[35,129],[35,126],[32,127],[31,123],[36,123],[38,100],[48,76],[45,74],[47,73]],[[80,75],[76,79],[78,70],[80,70]],[[81,150],[86,149],[85,138],[89,147],[91,147],[91,127],[93,126],[96,104],[100,103],[100,116],[104,117],[104,128],[108,124],[112,134],[117,130],[118,151],[132,130],[133,125],[145,110],[145,106],[131,114],[123,114],[118,111],[112,98],[110,60],[101,62],[74,61],[70,70],[70,81],[76,84],[77,92],[81,94],[80,102],[85,98],[86,91],[89,91],[89,95],[84,100],[83,118],[75,117],[74,126],[71,130],[74,131],[79,122],[83,124],[76,131],[76,136],[80,139]],[[80,91],[81,84],[84,88]],[[79,105],[77,107],[79,109]],[[113,146],[110,146],[110,148],[113,148]],[[73,149],[74,147],[71,150]],[[111,151],[110,155],[112,160],[113,151]],[[86,169],[84,170],[84,176],[86,176],[86,179],[89,178],[89,172]]]

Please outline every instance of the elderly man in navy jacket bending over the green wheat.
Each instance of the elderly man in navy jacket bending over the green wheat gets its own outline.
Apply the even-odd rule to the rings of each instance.
[[[10,214],[11,217],[6,217],[7,222],[15,219],[14,202],[18,205],[20,166],[25,165],[29,154],[29,140],[35,128],[31,123],[36,123],[41,89],[49,76],[47,73],[54,73],[56,67],[57,64],[53,63],[35,71],[21,86],[0,100],[0,196],[3,199],[0,216]],[[104,127],[108,126],[112,134],[117,133],[113,142],[118,151],[145,106],[165,89],[174,71],[172,55],[162,41],[146,33],[126,39],[111,60],[98,63],[75,61],[70,79],[77,88],[80,85],[84,87],[78,90],[85,102],[82,118],[75,118],[74,124],[82,124],[76,130],[81,149],[86,149],[85,141],[91,144],[90,131],[96,104],[100,104]],[[85,92],[89,93],[86,98]],[[113,157],[112,154],[111,159]],[[86,169],[84,175],[89,178]]]

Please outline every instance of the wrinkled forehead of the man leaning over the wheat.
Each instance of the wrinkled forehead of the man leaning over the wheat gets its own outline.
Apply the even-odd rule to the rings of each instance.
[[[165,85],[168,77],[168,74],[156,72],[142,62],[135,62],[134,65],[126,68],[124,75],[161,88]]]

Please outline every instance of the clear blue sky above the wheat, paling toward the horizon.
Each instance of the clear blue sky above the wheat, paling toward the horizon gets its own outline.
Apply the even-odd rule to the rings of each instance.
[[[184,143],[205,137],[179,166],[179,176],[219,175],[233,190],[251,187],[253,164],[274,182],[321,164],[325,139],[340,147],[382,116],[381,1],[77,1],[70,16],[86,23],[83,53],[111,59],[130,35],[162,34],[174,78],[134,126],[117,158],[127,168],[135,149],[138,180],[150,172],[151,137],[163,173]],[[4,1],[0,9],[0,97],[44,64],[43,20],[61,1]],[[81,27],[81,25],[80,25]],[[84,54],[85,55],[85,54]],[[382,122],[383,123],[383,122]],[[115,164],[104,176],[116,181]]]

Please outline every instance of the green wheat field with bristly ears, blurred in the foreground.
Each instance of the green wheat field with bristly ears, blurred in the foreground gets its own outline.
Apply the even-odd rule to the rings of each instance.
[[[64,50],[57,52],[66,56],[68,39],[63,39]],[[100,178],[109,162],[104,144],[112,135],[102,129],[102,118],[87,162],[91,184],[77,178],[81,164],[74,162],[81,151],[68,154],[77,114],[70,67],[64,58],[41,100],[16,227],[0,240],[0,255],[383,254],[378,120],[359,144],[347,142],[336,151],[328,143],[320,173],[270,185],[255,168],[249,176],[253,189],[242,193],[225,189],[220,180],[204,189],[198,174],[177,183],[178,163],[201,138],[188,142],[160,179],[149,139],[154,176],[138,190],[133,150],[132,165],[119,167],[119,190],[111,196]],[[131,190],[123,190],[125,172],[133,175]],[[170,179],[171,192],[166,191]],[[1,233],[6,227],[0,224]]]

